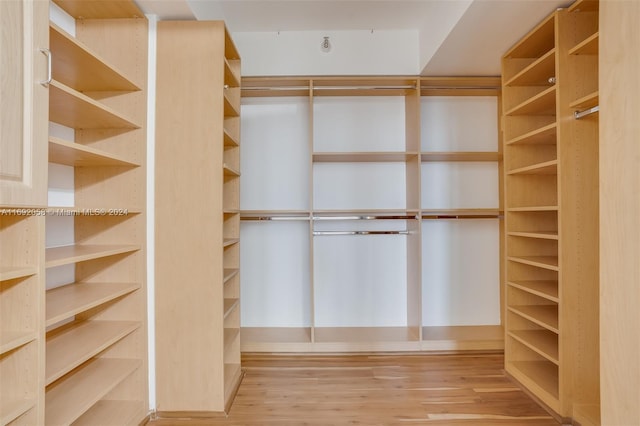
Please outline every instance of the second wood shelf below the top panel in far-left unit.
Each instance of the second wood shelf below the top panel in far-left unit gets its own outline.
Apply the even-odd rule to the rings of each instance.
[[[74,129],[138,129],[139,125],[116,110],[64,84],[49,84],[49,119]]]

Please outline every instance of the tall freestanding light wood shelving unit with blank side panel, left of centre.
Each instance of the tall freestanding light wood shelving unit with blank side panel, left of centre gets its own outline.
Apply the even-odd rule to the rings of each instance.
[[[158,24],[157,90],[158,411],[228,411],[242,378],[240,57],[222,21]]]

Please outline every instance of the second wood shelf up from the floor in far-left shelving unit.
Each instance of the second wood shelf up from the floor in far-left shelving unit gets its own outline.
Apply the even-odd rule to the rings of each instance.
[[[55,382],[45,395],[47,425],[69,425],[141,365],[139,360],[98,358]]]

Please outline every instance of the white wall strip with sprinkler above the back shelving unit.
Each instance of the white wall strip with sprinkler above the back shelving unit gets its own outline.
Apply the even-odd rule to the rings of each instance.
[[[331,51],[320,50],[329,36]],[[417,30],[235,32],[243,76],[420,73]]]

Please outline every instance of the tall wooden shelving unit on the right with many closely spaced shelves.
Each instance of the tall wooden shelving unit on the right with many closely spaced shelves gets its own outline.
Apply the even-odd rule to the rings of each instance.
[[[598,105],[597,10],[554,12],[502,61],[505,366],[564,418],[599,393],[597,113],[574,119]]]

